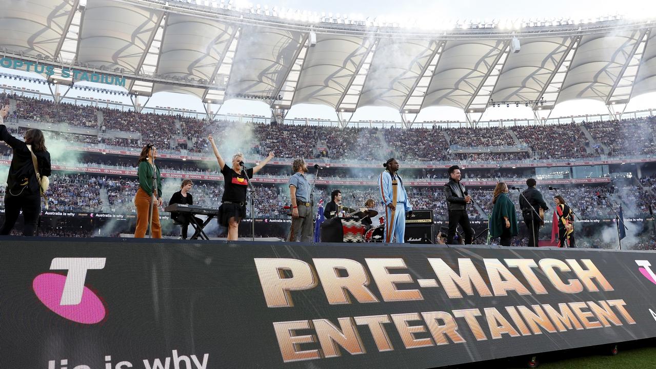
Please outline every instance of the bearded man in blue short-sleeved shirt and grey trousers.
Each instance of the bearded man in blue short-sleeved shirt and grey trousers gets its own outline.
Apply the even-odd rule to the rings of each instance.
[[[312,241],[314,227],[312,227],[312,204],[310,204],[310,182],[305,173],[308,166],[303,159],[295,159],[293,163],[294,175],[289,178],[289,195],[291,197],[291,229],[287,241]],[[333,199],[335,199],[333,197]]]

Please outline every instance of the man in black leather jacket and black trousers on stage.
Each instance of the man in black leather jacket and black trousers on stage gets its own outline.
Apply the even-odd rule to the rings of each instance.
[[[444,185],[444,196],[447,199],[447,209],[449,210],[447,244],[453,244],[458,224],[464,231],[464,244],[472,244],[472,237],[474,237],[474,231],[467,215],[467,204],[472,202],[472,197],[466,194],[464,185],[460,183],[461,176],[459,166],[449,167],[449,182]]]

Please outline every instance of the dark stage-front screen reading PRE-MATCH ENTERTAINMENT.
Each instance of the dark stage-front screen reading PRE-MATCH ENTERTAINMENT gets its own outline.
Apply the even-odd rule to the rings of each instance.
[[[0,260],[1,368],[432,368],[656,337],[655,252],[4,237]]]

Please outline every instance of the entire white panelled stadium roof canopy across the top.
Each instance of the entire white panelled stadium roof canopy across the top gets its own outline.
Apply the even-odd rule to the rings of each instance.
[[[129,92],[145,96],[173,91],[219,104],[251,98],[346,112],[478,112],[512,102],[548,109],[580,98],[621,104],[656,91],[655,22],[533,22],[514,31],[470,24],[428,32],[191,2],[12,2],[0,15],[1,54],[121,75]],[[513,52],[514,38],[520,52]]]

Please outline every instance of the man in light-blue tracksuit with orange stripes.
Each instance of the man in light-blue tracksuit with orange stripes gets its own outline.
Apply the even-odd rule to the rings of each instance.
[[[405,213],[412,214],[412,205],[408,200],[403,180],[398,175],[399,162],[391,158],[383,166],[386,168],[380,174],[380,199],[385,206],[385,242],[391,243],[396,237],[396,243],[405,242]]]

